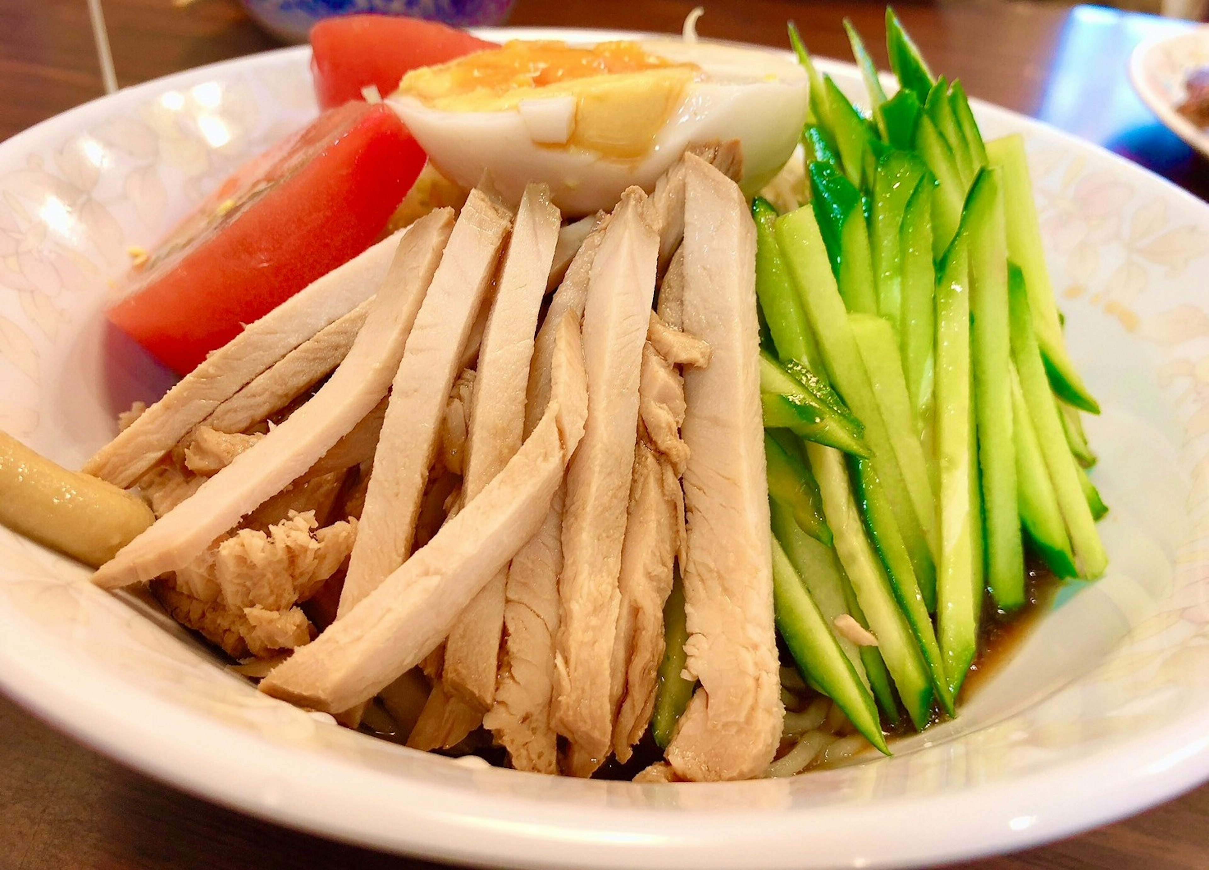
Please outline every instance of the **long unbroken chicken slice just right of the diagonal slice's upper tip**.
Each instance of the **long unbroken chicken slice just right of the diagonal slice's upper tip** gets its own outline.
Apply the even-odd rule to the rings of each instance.
[[[611,666],[618,574],[638,423],[638,372],[655,290],[659,236],[646,195],[621,195],[592,263],[584,308],[589,414],[567,471],[561,619],[553,723],[572,744],[572,772],[590,776],[613,735]]]

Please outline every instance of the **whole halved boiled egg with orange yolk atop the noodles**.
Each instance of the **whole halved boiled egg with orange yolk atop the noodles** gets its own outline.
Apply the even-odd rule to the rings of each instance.
[[[648,191],[694,144],[737,139],[753,193],[783,166],[806,115],[792,60],[681,40],[514,41],[412,70],[389,104],[435,167],[513,201],[544,181],[567,214]]]

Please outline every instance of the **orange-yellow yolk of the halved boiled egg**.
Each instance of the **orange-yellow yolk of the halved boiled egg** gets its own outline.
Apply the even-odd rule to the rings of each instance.
[[[433,109],[467,112],[569,98],[574,120],[560,146],[638,158],[652,150],[700,71],[696,64],[650,54],[636,42],[588,47],[517,40],[412,70],[398,93]]]

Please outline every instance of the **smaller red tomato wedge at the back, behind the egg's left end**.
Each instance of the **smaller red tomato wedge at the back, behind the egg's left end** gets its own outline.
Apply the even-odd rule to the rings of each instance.
[[[388,97],[409,70],[496,47],[440,22],[376,14],[325,18],[311,28],[314,93],[323,109],[364,99],[368,85]]]

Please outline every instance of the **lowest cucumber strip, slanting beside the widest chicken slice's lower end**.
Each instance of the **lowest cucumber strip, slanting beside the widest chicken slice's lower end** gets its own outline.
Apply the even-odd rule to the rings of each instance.
[[[832,627],[776,539],[773,540],[773,601],[776,627],[803,674],[839,704],[867,741],[889,755],[873,695],[839,648]]]

